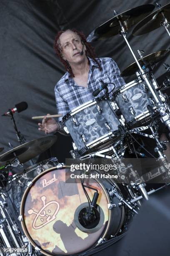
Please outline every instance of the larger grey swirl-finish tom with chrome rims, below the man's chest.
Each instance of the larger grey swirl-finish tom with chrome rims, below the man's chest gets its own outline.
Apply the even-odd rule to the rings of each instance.
[[[67,113],[62,120],[80,154],[91,148],[97,149],[106,141],[116,140],[120,134],[120,121],[105,98],[97,98],[80,105]]]

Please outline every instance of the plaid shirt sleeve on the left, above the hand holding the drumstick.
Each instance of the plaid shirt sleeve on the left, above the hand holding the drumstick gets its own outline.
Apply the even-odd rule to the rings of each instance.
[[[57,90],[57,84],[55,86],[55,101],[56,101],[56,107],[57,107],[57,114],[61,114],[62,116],[57,118],[57,121],[62,121],[62,117],[66,115],[69,112],[68,104],[65,100],[62,99],[62,96],[60,95],[60,92]]]

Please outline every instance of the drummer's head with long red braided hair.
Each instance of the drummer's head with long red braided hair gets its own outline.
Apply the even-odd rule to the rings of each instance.
[[[74,74],[70,65],[82,63],[87,55],[95,59],[93,47],[87,43],[85,35],[75,29],[59,31],[55,37],[54,49],[72,77],[74,77]],[[83,51],[82,55],[80,54],[81,51]],[[95,62],[98,64],[98,61],[95,60]]]

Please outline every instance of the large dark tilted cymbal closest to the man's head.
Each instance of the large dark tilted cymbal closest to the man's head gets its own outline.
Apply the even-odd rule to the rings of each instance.
[[[119,34],[120,21],[127,31],[133,25],[145,18],[155,8],[154,5],[141,5],[136,8],[127,10],[123,13],[115,15],[115,17],[107,20],[105,23],[95,28],[87,37],[87,42],[93,42],[115,36]]]

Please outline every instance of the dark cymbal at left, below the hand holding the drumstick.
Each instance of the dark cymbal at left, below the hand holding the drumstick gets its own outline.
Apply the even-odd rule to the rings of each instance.
[[[20,161],[20,164],[23,164],[50,148],[50,146],[52,146],[56,140],[57,136],[45,136],[24,143],[0,155],[0,163],[12,161],[15,159],[16,155]]]

